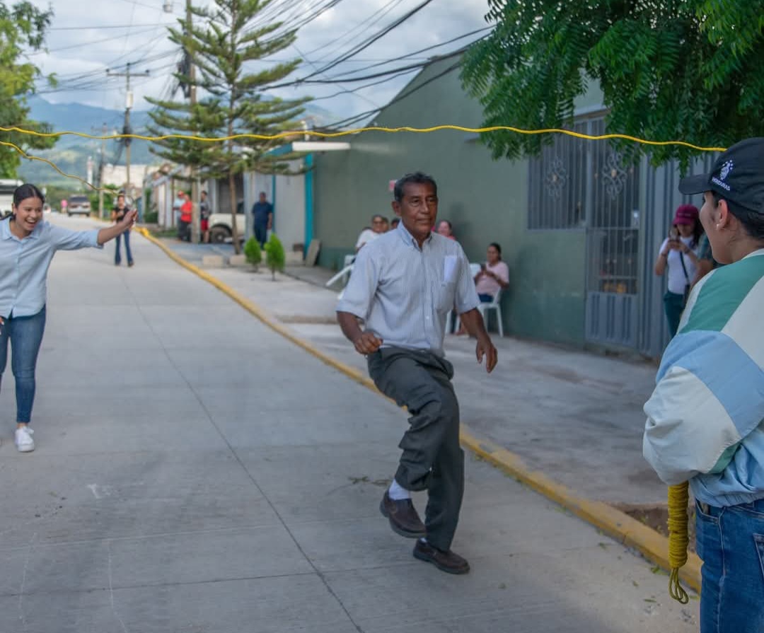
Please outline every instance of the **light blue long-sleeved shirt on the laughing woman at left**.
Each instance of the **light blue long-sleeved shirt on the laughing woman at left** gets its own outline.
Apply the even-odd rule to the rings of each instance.
[[[40,221],[20,240],[0,221],[0,317],[31,316],[45,305],[47,271],[57,250],[100,247],[98,229],[70,231]]]

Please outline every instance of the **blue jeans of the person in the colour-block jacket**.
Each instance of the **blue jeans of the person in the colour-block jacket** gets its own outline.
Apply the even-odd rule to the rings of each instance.
[[[696,503],[695,515],[703,559],[701,633],[761,633],[764,499],[728,508]]]

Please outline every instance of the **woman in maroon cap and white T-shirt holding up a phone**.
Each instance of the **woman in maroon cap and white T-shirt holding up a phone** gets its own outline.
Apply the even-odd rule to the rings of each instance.
[[[674,215],[669,237],[662,242],[656,259],[656,275],[668,271],[668,288],[663,296],[663,309],[669,321],[669,334],[675,336],[681,312],[698,270],[698,243],[703,227],[698,221],[698,207],[680,205]]]

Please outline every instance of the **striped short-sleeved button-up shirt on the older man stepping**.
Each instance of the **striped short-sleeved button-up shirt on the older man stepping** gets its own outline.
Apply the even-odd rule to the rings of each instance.
[[[364,319],[383,347],[443,356],[448,312],[456,308],[462,314],[479,304],[458,242],[433,233],[420,249],[401,223],[358,251],[337,312]]]

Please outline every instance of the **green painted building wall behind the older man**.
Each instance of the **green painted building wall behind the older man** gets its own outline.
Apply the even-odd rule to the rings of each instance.
[[[479,127],[481,106],[462,91],[458,70],[429,82],[452,63],[446,60],[426,69],[402,94],[423,87],[387,106],[374,123],[390,128]],[[319,264],[341,267],[371,215],[393,217],[390,180],[423,171],[438,182],[439,218],[452,221],[470,260],[484,260],[490,242],[501,244],[510,267],[510,289],[502,299],[507,333],[584,343],[585,234],[526,229],[526,160],[491,160],[474,134],[461,131],[364,132],[345,140],[351,150],[316,155],[314,235],[321,240]]]

